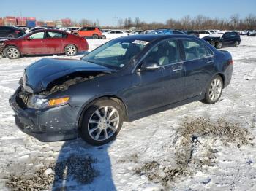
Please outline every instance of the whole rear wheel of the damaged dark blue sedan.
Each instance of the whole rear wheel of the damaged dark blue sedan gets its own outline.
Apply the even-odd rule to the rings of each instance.
[[[206,104],[215,104],[222,96],[223,80],[222,77],[216,75],[206,88],[205,98],[202,100]]]

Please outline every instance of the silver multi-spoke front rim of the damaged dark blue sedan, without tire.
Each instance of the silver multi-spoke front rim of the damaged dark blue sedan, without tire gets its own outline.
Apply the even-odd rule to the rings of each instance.
[[[120,121],[118,110],[113,106],[103,106],[91,114],[88,131],[92,139],[105,141],[116,132]]]

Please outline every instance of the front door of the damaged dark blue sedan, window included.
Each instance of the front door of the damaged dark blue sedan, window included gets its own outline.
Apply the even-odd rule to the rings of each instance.
[[[174,56],[178,52],[177,48],[177,42],[173,40],[160,42],[140,63],[140,66],[143,63],[159,63],[159,69],[133,74],[134,85],[128,98],[135,103],[129,106],[133,114],[157,109],[183,99],[184,70],[182,63],[178,62],[178,55]]]

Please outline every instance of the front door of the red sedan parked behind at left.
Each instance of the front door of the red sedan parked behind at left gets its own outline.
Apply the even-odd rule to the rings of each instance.
[[[23,54],[48,54],[45,44],[45,32],[38,31],[27,36],[22,41]]]

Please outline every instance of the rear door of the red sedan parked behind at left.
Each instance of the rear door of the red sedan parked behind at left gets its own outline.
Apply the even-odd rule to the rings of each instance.
[[[66,35],[61,32],[47,31],[45,45],[48,49],[48,54],[58,54],[64,52],[63,41]]]

